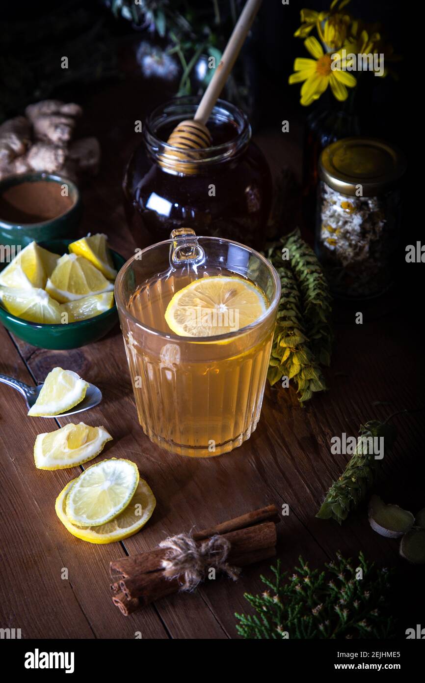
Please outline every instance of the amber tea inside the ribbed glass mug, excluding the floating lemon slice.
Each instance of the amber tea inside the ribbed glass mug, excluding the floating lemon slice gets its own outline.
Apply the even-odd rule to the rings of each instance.
[[[208,268],[207,275],[235,273]],[[204,273],[184,268],[144,283],[130,297],[130,316],[173,335],[164,318],[166,307],[196,277]],[[250,437],[263,401],[274,319],[224,340],[193,337],[189,342],[176,335],[147,339],[132,318],[126,322],[123,335],[138,419],[151,441],[181,455],[206,457],[231,451]]]

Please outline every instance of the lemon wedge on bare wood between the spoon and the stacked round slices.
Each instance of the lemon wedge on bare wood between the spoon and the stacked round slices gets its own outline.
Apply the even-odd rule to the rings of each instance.
[[[104,427],[89,427],[83,422],[38,434],[34,444],[35,466],[55,470],[83,464],[96,458],[107,441],[112,441],[112,436]]]

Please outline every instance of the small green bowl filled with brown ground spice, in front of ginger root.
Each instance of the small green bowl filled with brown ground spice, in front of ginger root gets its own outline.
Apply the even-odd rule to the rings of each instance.
[[[21,173],[0,181],[0,245],[73,237],[80,217],[80,194],[68,178]]]

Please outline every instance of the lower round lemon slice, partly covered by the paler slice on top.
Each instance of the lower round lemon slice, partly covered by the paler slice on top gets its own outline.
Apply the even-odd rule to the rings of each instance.
[[[65,529],[83,541],[89,543],[122,541],[140,531],[155,510],[155,496],[144,479],[139,479],[130,503],[117,517],[99,527],[76,527],[66,516],[66,497],[75,482],[76,479],[73,479],[61,490],[56,499],[55,510]]]

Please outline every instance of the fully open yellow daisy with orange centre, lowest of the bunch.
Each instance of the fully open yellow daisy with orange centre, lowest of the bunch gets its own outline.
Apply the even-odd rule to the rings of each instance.
[[[338,69],[332,69],[332,57],[323,53],[323,48],[317,38],[309,36],[304,40],[306,49],[314,59],[295,59],[293,68],[295,73],[289,76],[289,83],[304,83],[301,87],[301,104],[307,107],[319,97],[328,85],[330,85],[334,97],[342,102],[347,100],[347,87],[354,87],[357,83],[353,74],[344,71],[345,59],[342,59],[341,51],[338,52],[340,60]]]

